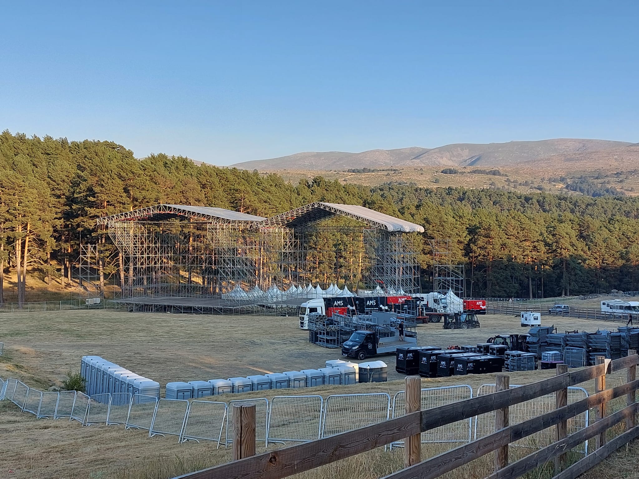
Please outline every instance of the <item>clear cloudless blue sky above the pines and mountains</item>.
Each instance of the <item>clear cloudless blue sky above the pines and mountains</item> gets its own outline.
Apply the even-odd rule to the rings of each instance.
[[[11,2],[0,129],[226,165],[639,142],[639,2]]]

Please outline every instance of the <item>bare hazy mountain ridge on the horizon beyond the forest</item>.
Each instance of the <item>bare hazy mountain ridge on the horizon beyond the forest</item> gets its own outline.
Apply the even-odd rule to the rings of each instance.
[[[589,156],[629,158],[639,162],[639,143],[593,139],[550,139],[507,143],[455,143],[438,148],[371,149],[361,153],[305,151],[295,155],[236,163],[241,169],[345,170],[420,166],[522,166],[551,162],[587,162]]]

